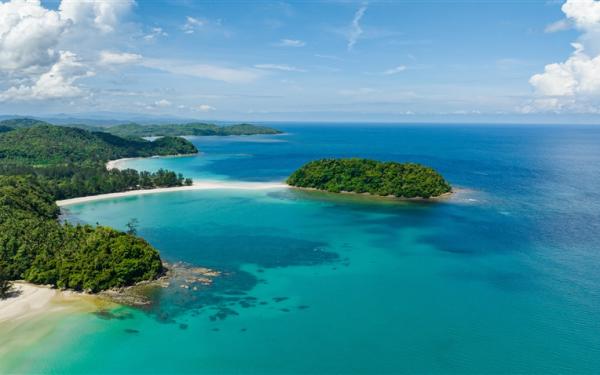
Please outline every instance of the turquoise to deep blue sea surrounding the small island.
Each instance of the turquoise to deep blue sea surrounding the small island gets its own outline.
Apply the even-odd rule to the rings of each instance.
[[[74,222],[136,218],[168,262],[222,275],[172,283],[145,309],[63,317],[0,372],[600,373],[600,127],[272,125],[286,134],[190,138],[202,154],[126,166],[281,181],[313,159],[360,156],[430,165],[457,193],[212,190],[69,206]]]

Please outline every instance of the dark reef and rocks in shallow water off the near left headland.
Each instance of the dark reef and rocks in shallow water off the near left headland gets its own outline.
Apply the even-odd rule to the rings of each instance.
[[[324,242],[293,237],[199,236],[198,233],[191,237],[193,247],[187,241],[180,244],[183,249],[189,249],[189,253],[183,256],[186,261],[210,267],[220,274],[203,285],[190,283],[190,279],[197,280],[198,277],[191,277],[189,272],[179,272],[177,277],[168,281],[168,285],[149,289],[146,296],[151,303],[142,308],[163,323],[175,323],[181,314],[197,316],[204,311],[208,311],[207,319],[216,322],[239,315],[236,308],[245,310],[267,305],[267,301],[258,301],[248,295],[256,285],[266,283],[266,280],[242,270],[244,265],[256,265],[258,272],[264,272],[269,268],[321,265],[342,260],[337,253],[328,251]],[[194,268],[191,265],[186,267]],[[272,297],[276,303],[287,299],[285,296]]]

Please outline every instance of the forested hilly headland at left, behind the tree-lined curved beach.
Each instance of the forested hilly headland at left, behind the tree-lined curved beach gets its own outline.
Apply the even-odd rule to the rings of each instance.
[[[123,157],[196,153],[189,141],[164,137],[154,142],[124,139],[84,129],[39,125],[0,133],[0,161],[47,165],[107,161]]]

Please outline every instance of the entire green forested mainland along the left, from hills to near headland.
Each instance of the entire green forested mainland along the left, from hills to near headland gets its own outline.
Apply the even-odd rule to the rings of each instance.
[[[110,159],[196,153],[189,141],[154,142],[13,121],[0,132],[0,294],[23,279],[98,292],[158,277],[158,251],[135,235],[58,221],[58,199],[191,184],[172,171],[107,170]]]

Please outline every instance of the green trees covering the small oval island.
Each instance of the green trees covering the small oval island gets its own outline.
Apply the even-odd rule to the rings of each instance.
[[[334,193],[369,193],[399,198],[431,198],[452,190],[432,168],[359,158],[309,162],[295,171],[287,183]]]

